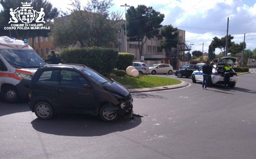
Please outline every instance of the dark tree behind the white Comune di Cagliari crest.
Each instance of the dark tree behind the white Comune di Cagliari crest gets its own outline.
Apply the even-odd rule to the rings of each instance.
[[[8,22],[10,21],[10,8],[21,7],[20,0],[0,0],[0,4],[3,6],[3,10],[0,12],[0,25],[1,26],[10,26]],[[52,4],[47,0],[27,0],[26,2],[32,2],[32,7],[36,11],[40,11],[41,8],[44,8],[44,20],[46,21],[46,26],[51,24],[51,20],[59,15],[59,11],[57,8],[53,8]],[[21,22],[18,22],[20,24]],[[36,22],[32,22],[30,24],[36,24]],[[25,39],[25,38],[33,38],[36,36],[48,36],[50,30],[4,30],[3,27],[0,30],[1,36],[11,36],[16,37],[17,39]],[[33,40],[34,41],[34,40]],[[32,43],[32,47],[34,48],[34,42]]]

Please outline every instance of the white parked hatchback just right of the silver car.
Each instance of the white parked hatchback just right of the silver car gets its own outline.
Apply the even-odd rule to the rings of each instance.
[[[151,65],[151,67],[149,67],[149,72],[152,75],[155,75],[155,74],[172,75],[173,67],[172,67],[172,65],[169,65],[169,64],[155,64],[155,65]]]

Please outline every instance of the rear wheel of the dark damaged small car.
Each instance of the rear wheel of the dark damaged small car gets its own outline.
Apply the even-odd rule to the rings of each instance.
[[[47,102],[38,102],[34,111],[39,119],[48,120],[53,116],[53,108]]]

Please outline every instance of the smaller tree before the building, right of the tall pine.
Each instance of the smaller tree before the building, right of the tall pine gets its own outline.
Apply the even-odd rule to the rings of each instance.
[[[165,51],[169,52],[172,47],[176,48],[178,45],[178,29],[174,28],[172,25],[164,26],[160,35],[165,37],[165,39],[160,41],[160,47],[165,49]]]

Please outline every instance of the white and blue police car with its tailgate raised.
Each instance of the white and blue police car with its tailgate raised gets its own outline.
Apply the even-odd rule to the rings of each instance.
[[[229,86],[234,87],[237,82],[237,74],[232,69],[232,67],[234,66],[236,61],[237,61],[237,58],[234,58],[234,57],[222,57],[219,59],[214,59],[214,63],[216,62],[216,65],[215,65],[216,67],[215,69],[212,68],[212,73],[211,73],[212,84],[224,84],[225,75],[223,73],[223,69],[225,67],[225,64],[228,63],[231,67]],[[200,81],[200,82],[203,81],[202,68],[192,73],[192,82],[196,83],[196,81]]]

